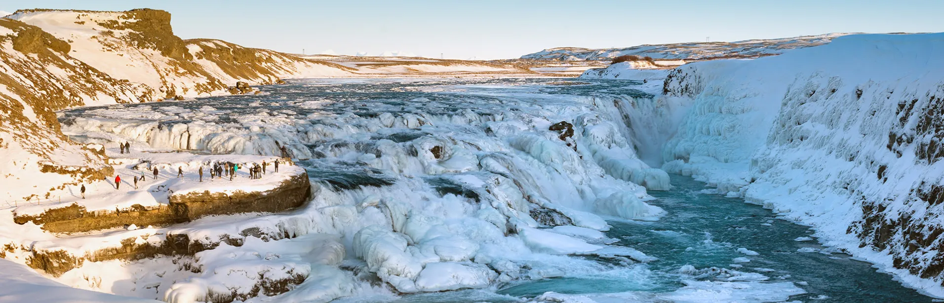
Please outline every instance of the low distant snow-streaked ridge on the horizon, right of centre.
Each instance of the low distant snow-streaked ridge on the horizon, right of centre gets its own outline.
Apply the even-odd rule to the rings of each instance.
[[[829,43],[836,37],[849,34],[832,33],[817,36],[768,40],[742,40],[734,42],[685,42],[670,44],[643,44],[627,48],[587,49],[559,47],[521,56],[524,59],[549,59],[562,61],[602,60],[617,56],[650,56],[655,59],[682,59],[686,61],[718,58],[758,57],[779,55],[797,48]]]

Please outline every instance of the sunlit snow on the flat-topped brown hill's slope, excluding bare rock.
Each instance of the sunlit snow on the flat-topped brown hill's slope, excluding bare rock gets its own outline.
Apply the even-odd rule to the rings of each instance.
[[[132,29],[110,30],[99,24],[133,22],[126,20],[124,15],[125,12],[122,11],[38,10],[20,11],[8,18],[39,26],[59,40],[68,41],[71,46],[69,56],[76,57],[114,79],[127,80],[133,87],[146,88],[142,90],[148,90],[146,94],[152,95],[154,99],[164,98],[168,90],[173,90],[170,95],[172,97],[228,94],[227,86],[235,85],[237,81],[260,84],[285,77],[351,75],[351,72],[331,66],[327,62],[305,61],[267,50],[255,50],[257,56],[267,57],[267,62],[260,64],[267,72],[252,75],[230,74],[203,56],[179,59],[165,56],[157,49],[139,47],[133,36],[140,33]],[[218,40],[184,40],[184,43],[192,55],[201,52],[204,46],[242,48]],[[137,95],[142,93],[145,91],[139,91]]]

